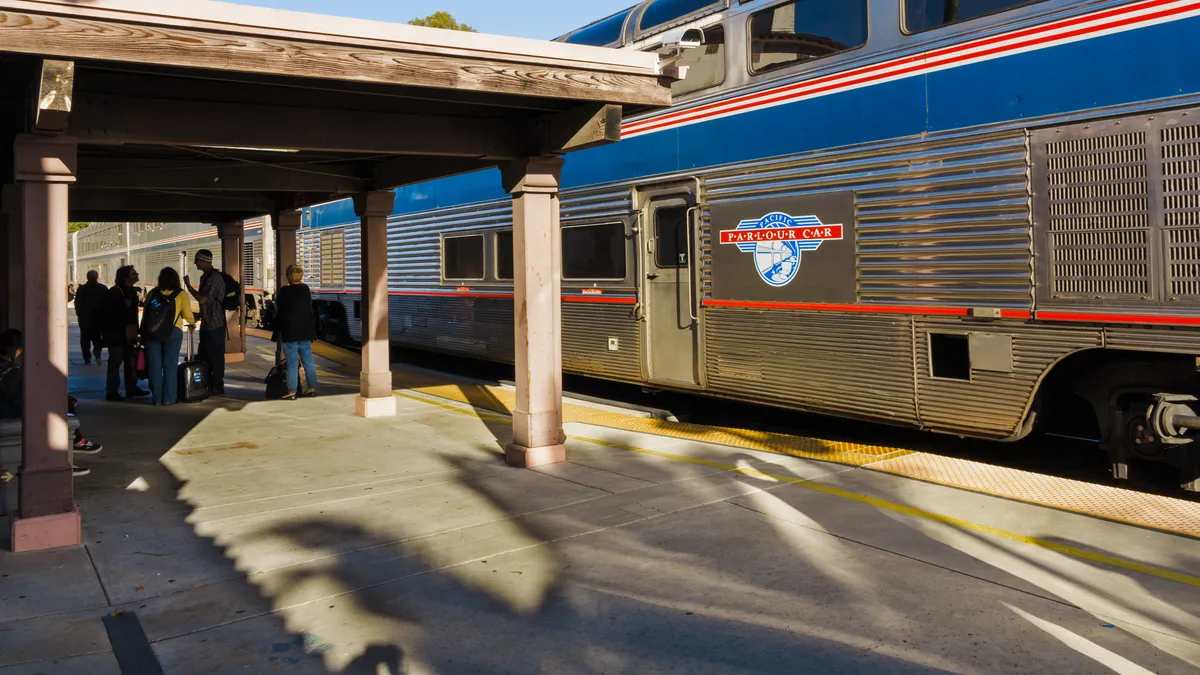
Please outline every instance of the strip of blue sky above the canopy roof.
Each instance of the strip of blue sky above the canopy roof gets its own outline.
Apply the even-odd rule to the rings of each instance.
[[[446,11],[480,32],[553,40],[637,0],[229,0],[318,14],[407,23]]]

